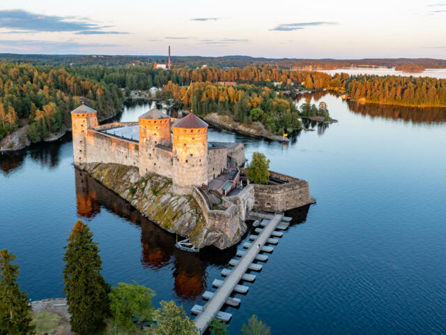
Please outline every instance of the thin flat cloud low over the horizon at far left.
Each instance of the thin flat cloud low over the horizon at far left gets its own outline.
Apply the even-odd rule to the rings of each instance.
[[[99,44],[99,43],[78,43],[75,41],[59,42],[54,40],[0,40],[0,50],[5,47],[9,50],[22,52],[56,52],[64,53],[88,50],[92,47],[119,47],[121,45]]]

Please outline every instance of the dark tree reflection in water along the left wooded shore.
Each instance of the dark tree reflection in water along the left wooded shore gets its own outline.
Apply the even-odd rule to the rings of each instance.
[[[9,173],[22,165],[27,156],[42,166],[56,168],[59,165],[61,145],[71,142],[71,135],[67,134],[56,142],[33,144],[28,149],[0,154],[0,169]]]

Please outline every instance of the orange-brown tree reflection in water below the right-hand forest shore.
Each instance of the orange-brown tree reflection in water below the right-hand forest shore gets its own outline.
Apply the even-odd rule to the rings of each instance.
[[[354,113],[369,115],[370,117],[383,117],[385,119],[402,119],[415,124],[436,123],[446,121],[446,108],[440,107],[408,107],[394,105],[380,105],[375,103],[360,103],[348,101],[348,109]]]

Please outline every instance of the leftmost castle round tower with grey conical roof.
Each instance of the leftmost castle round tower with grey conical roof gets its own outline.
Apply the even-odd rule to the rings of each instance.
[[[71,126],[75,164],[86,163],[86,132],[88,129],[98,126],[96,111],[82,103],[82,105],[71,112]]]

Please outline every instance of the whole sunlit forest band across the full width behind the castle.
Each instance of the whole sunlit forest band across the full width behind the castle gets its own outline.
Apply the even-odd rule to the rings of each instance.
[[[190,82],[192,88],[183,104],[192,106],[197,114],[229,112],[242,123],[261,122],[274,134],[300,127],[298,111],[284,93],[301,86],[345,89],[351,98],[367,103],[446,106],[446,80],[431,77],[329,75],[269,66],[162,70],[153,66],[0,63],[0,140],[26,124],[33,142],[60,133],[70,127],[70,111],[81,101],[98,110],[100,117],[113,114],[123,101],[121,88],[165,87],[164,98],[180,101]],[[327,118],[315,108],[303,112]]]

